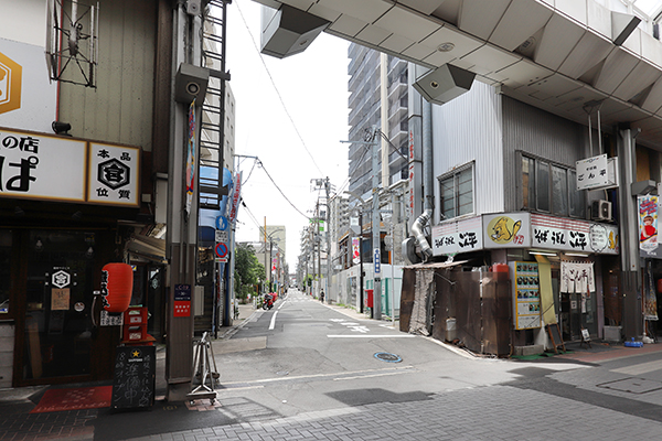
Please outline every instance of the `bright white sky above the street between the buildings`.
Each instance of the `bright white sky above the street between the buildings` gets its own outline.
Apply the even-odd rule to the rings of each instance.
[[[235,154],[264,164],[263,170],[253,159],[235,161],[248,208],[239,207],[236,241],[259,240],[265,216],[267,225],[285,225],[286,258],[295,272],[306,216],[313,215],[318,197],[311,180],[329,178],[337,191],[346,189],[349,144],[340,141],[349,133],[349,43],[322,33],[291,57],[260,55],[260,8],[252,0],[227,7],[226,32]]]

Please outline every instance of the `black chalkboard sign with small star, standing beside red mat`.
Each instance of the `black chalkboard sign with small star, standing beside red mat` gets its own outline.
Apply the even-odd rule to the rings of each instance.
[[[154,346],[118,346],[113,379],[113,408],[152,406],[156,368]]]

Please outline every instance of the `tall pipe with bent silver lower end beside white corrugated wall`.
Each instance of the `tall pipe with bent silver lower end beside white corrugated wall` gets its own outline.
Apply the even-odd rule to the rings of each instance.
[[[424,212],[414,220],[412,234],[423,252],[423,261],[433,257],[433,248],[425,237],[425,226],[433,218],[433,105],[423,100],[423,193]]]

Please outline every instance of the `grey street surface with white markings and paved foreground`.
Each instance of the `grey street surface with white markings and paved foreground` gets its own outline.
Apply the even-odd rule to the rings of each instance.
[[[591,364],[474,358],[341,311],[290,291],[214,343],[215,405],[102,411],[94,439],[622,440],[662,430],[660,352]]]

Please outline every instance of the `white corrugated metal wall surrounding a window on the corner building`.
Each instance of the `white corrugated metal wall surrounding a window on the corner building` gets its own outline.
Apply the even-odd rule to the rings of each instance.
[[[444,106],[433,106],[435,215],[439,223],[440,175],[476,161],[476,213],[504,211],[501,95],[474,82],[471,90]]]

